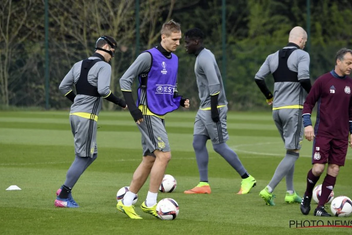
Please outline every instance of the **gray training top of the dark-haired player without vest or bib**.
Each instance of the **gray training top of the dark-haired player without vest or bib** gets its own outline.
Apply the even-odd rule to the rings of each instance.
[[[210,95],[219,94],[218,106],[227,105],[224,86],[214,54],[204,48],[199,52],[194,64],[200,109],[210,109]]]

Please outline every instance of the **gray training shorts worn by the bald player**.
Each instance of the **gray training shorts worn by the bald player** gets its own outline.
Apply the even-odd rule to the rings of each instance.
[[[286,149],[301,149],[303,140],[302,109],[278,109],[272,118],[285,143]]]

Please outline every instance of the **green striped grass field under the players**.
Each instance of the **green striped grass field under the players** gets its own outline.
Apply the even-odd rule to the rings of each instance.
[[[266,206],[258,196],[269,183],[285,154],[271,113],[228,114],[228,145],[247,171],[257,179],[249,194],[237,195],[239,175],[217,155],[209,143],[209,195],[187,195],[184,190],[199,181],[192,148],[194,112],[174,112],[166,117],[172,149],[167,174],[177,179],[175,192],[159,193],[180,205],[174,221],[161,221],[139,208],[148,182],[138,193],[134,221],[118,212],[115,195],[130,184],[142,159],[140,133],[129,112],[101,112],[98,159],[73,189],[80,208],[55,208],[55,192],[65,180],[74,159],[68,112],[0,111],[0,234],[352,234],[352,228],[290,228],[290,221],[321,220],[352,225],[352,217],[303,216],[299,205],[284,204],[285,181],[276,188],[276,206]],[[295,189],[302,196],[311,165],[312,143],[304,140],[295,167]],[[335,195],[352,197],[352,152],[340,171]],[[321,184],[323,177],[319,180]],[[6,191],[18,185],[21,191]],[[314,205],[312,205],[314,210]],[[307,225],[307,223],[306,223]],[[311,224],[312,225],[312,224]]]

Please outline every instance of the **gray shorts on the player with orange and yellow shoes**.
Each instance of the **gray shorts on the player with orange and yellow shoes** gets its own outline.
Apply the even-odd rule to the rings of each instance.
[[[226,142],[228,140],[227,106],[218,108],[218,111],[220,121],[214,122],[210,110],[199,109],[194,122],[193,135],[205,135],[212,141],[212,144]]]

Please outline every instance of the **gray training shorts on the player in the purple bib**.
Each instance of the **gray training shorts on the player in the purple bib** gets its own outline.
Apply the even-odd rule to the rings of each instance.
[[[153,151],[156,149],[163,152],[171,151],[165,120],[152,115],[143,115],[143,120],[144,122],[137,124],[142,134],[143,156],[155,156]]]

